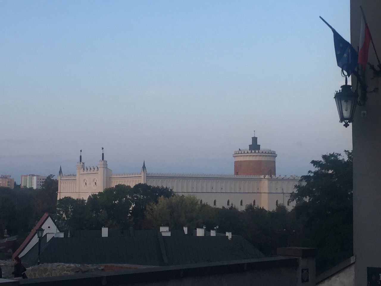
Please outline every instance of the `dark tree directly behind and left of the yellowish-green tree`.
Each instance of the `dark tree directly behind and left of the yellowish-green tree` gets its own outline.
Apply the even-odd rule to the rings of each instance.
[[[173,196],[173,191],[167,187],[150,186],[147,184],[136,184],[132,188],[131,216],[134,221],[134,228],[140,229],[144,221],[144,212],[148,204],[157,204],[160,197],[169,198]]]

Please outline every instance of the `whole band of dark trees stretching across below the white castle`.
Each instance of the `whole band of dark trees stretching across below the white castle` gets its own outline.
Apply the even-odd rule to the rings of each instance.
[[[49,176],[42,190],[0,188],[0,236],[4,229],[8,235],[29,232],[44,212],[53,215],[60,231],[218,226],[218,232],[242,235],[266,255],[283,246],[316,247],[317,272],[322,272],[352,255],[352,153],[345,154],[311,161],[314,170],[301,177],[291,195],[296,201],[291,211],[281,204],[272,211],[251,204],[242,211],[216,208],[146,184],[106,188],[87,201],[57,201],[57,181]]]

